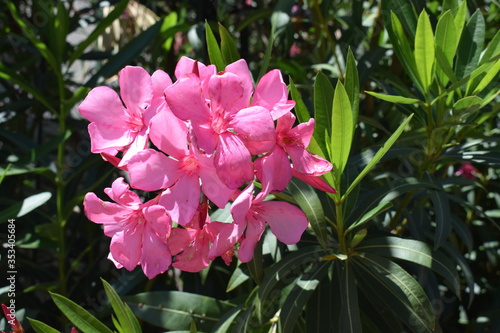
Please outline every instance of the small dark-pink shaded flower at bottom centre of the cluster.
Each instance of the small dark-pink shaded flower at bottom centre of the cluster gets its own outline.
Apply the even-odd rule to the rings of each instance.
[[[208,267],[210,259],[208,251],[217,234],[226,223],[211,222],[208,216],[208,204],[201,203],[193,220],[185,229],[174,228],[168,239],[168,245],[175,255],[172,264],[185,272],[199,272]],[[226,260],[226,264],[229,262]]]

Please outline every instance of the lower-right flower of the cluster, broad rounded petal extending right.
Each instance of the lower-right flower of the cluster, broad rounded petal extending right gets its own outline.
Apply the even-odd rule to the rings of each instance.
[[[254,185],[250,183],[233,202],[231,215],[234,222],[222,227],[210,249],[210,258],[222,255],[239,241],[239,259],[250,261],[266,222],[279,241],[295,244],[300,240],[308,225],[304,212],[287,202],[264,201],[268,194],[266,189],[254,198],[253,189]]]

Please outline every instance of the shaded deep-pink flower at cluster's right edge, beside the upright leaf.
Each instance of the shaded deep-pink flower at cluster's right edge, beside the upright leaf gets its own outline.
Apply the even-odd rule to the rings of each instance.
[[[292,128],[294,123],[295,116],[290,112],[278,119],[275,147],[255,161],[257,177],[263,186],[270,186],[271,191],[283,191],[295,176],[323,191],[335,193],[335,189],[318,178],[331,171],[332,164],[306,150],[314,131],[314,119]]]

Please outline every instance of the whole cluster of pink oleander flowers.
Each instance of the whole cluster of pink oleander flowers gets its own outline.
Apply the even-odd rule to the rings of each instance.
[[[97,87],[79,106],[92,152],[128,173],[129,184],[120,177],[105,189],[111,201],[84,199],[88,219],[111,238],[108,258],[127,270],[141,265],[153,278],[170,266],[196,272],[217,257],[229,264],[236,252],[248,262],[266,225],[281,242],[297,243],[305,214],[266,198],[292,177],[335,190],[319,177],[332,165],[306,150],[314,119],[294,126],[281,73],[268,72],[254,87],[244,60],[217,72],[183,57],[175,77],[127,66],[120,95]],[[230,207],[233,221],[212,221],[217,207]]]

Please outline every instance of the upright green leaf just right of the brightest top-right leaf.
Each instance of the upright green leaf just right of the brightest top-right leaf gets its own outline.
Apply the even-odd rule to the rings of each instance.
[[[444,13],[443,16],[439,18],[436,26],[436,50],[441,50],[445,55],[447,63],[450,68],[453,67],[453,58],[455,57],[457,46],[458,46],[458,36],[457,28],[455,27],[455,22],[453,16],[449,11]],[[445,73],[439,66],[439,62],[436,67],[436,75],[439,78],[441,84],[445,86],[448,83]]]

